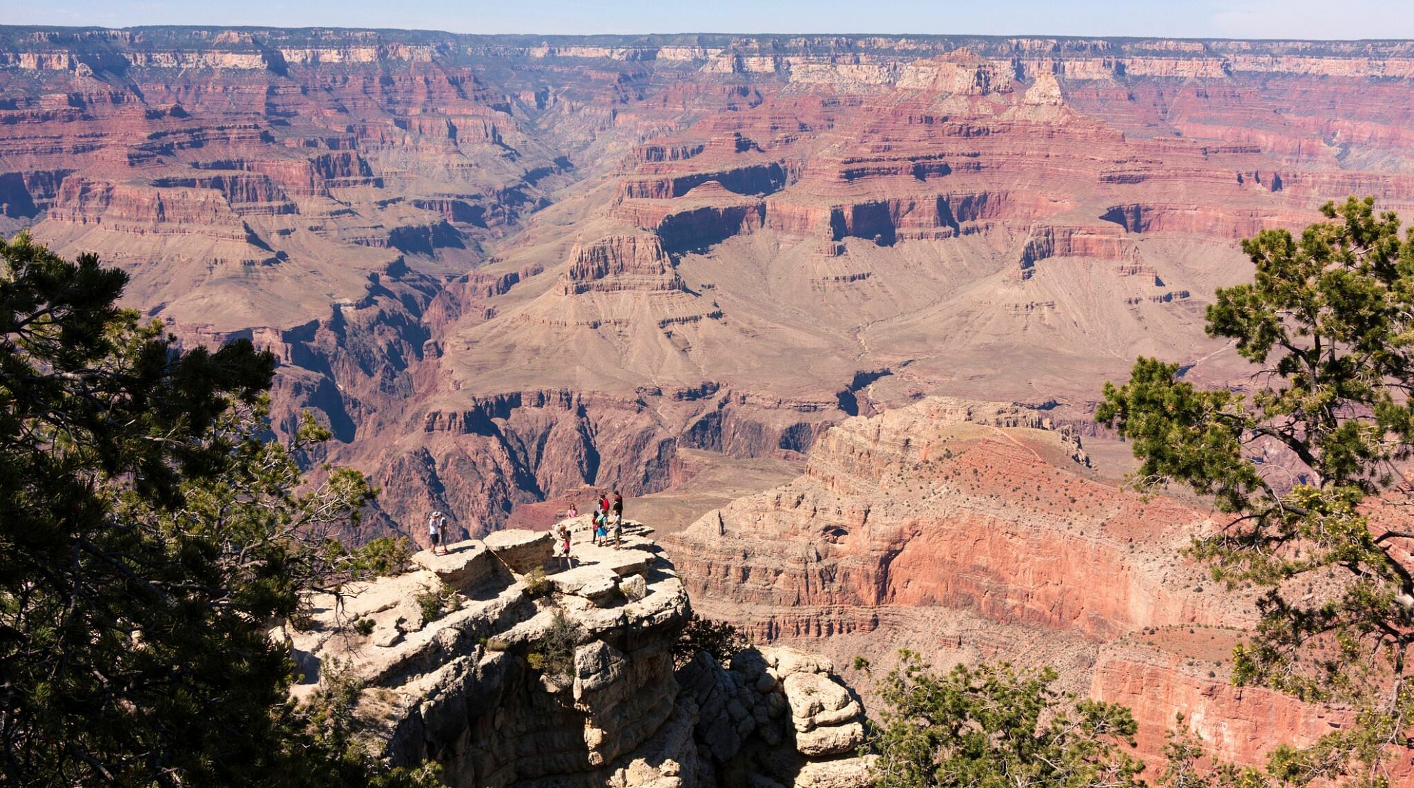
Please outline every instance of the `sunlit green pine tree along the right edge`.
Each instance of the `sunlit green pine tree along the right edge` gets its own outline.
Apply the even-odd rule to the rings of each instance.
[[[1234,681],[1363,709],[1353,730],[1274,753],[1271,772],[1383,784],[1414,719],[1414,532],[1387,515],[1414,503],[1414,236],[1401,240],[1370,198],[1322,212],[1299,239],[1244,240],[1254,280],[1208,308],[1208,333],[1256,367],[1243,390],[1203,390],[1140,359],[1128,383],[1106,384],[1096,418],[1133,442],[1140,486],[1182,483],[1230,514],[1193,554],[1216,579],[1268,589]],[[1386,515],[1372,520],[1376,508]],[[1291,593],[1301,576],[1333,587]]]

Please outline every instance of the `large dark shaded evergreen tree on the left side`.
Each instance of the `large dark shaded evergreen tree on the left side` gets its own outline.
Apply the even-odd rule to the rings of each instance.
[[[267,634],[372,490],[307,483],[311,419],[267,439],[270,353],[180,349],[116,306],[126,281],[0,241],[0,782],[413,780],[291,705]]]

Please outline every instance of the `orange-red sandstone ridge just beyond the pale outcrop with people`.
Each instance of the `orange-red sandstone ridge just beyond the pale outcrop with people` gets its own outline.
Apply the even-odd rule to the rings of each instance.
[[[1035,411],[930,398],[831,428],[799,479],[665,542],[696,607],[765,643],[877,665],[899,647],[943,667],[1056,665],[1066,686],[1134,710],[1154,774],[1178,713],[1243,764],[1349,724],[1230,686],[1253,595],[1178,555],[1209,517],[1087,477],[1076,458]]]

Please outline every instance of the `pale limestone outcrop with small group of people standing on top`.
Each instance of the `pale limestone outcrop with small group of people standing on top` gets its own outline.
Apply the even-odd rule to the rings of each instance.
[[[615,549],[571,523],[573,568],[549,532],[508,530],[315,597],[290,635],[296,695],[359,682],[386,757],[433,758],[450,785],[868,784],[864,712],[827,659],[748,648],[674,669],[691,607],[650,530]]]

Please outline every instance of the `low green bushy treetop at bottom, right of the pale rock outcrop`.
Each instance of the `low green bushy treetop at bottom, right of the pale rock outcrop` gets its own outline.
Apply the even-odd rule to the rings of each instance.
[[[875,785],[1143,785],[1128,709],[1051,689],[1055,671],[956,667],[939,675],[912,651],[880,688],[884,710],[870,746]]]

